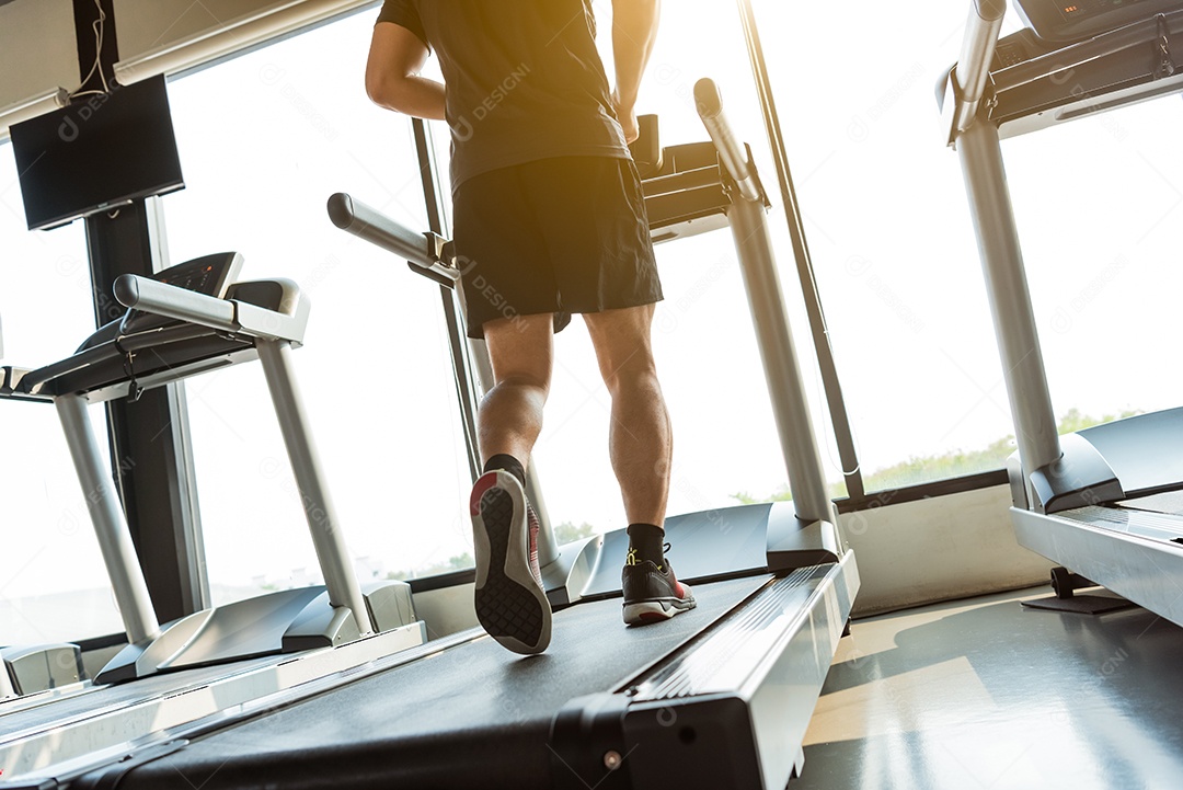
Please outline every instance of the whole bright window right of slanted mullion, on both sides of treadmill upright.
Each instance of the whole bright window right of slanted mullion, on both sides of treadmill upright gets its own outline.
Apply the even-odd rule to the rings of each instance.
[[[933,93],[969,4],[919,4],[906,24],[883,4],[756,6],[867,487],[996,468],[1014,429]],[[1020,25],[1009,11],[1003,34]],[[1181,116],[1166,99],[1003,142],[1065,427],[1177,399],[1158,349],[1179,332],[1164,130]]]

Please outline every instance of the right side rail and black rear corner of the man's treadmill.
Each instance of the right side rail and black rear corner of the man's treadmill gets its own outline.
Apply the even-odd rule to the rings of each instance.
[[[616,692],[571,700],[551,729],[554,786],[783,788],[858,588],[852,551],[802,568]]]

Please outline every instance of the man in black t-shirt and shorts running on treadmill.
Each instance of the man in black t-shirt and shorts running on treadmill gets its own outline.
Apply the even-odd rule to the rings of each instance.
[[[609,452],[629,520],[626,623],[694,598],[665,558],[672,435],[649,342],[662,298],[628,153],[660,0],[613,0],[612,91],[590,0],[386,0],[366,89],[452,130],[455,251],[468,335],[494,386],[477,414],[484,474],[470,507],[477,616],[517,653],[550,642],[534,509],[523,486],[542,429],[554,334],[582,313],[612,395]],[[434,50],[441,85],[419,76]]]

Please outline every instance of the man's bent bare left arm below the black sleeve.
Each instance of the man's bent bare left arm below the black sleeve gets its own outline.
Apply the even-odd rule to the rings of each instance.
[[[406,27],[375,25],[366,63],[366,92],[370,99],[388,110],[442,121],[444,85],[419,76],[427,54],[424,43]]]

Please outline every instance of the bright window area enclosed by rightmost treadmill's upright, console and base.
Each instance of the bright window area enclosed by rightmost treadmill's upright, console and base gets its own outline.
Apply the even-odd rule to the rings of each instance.
[[[1178,130],[1171,96],[1003,141],[1058,414],[1181,403]]]

